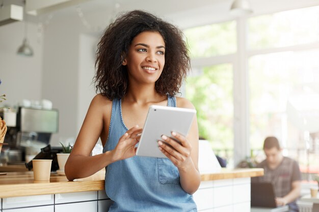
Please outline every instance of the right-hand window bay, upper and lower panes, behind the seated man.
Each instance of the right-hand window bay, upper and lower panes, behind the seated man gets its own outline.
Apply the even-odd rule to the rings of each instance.
[[[305,172],[319,171],[318,20],[319,7],[248,20],[250,146],[277,136]]]

